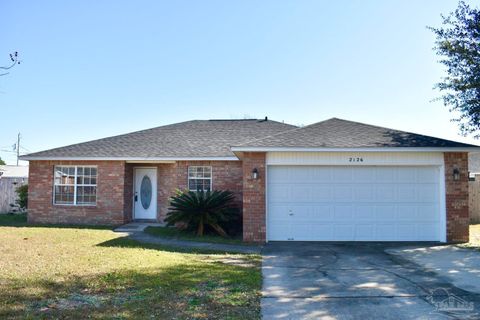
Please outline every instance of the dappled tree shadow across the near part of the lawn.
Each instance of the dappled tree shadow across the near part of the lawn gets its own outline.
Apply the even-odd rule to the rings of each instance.
[[[55,280],[0,279],[0,318],[258,319],[255,268],[192,261]]]

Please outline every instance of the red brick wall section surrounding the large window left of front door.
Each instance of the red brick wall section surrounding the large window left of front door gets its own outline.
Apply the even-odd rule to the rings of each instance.
[[[53,204],[55,165],[98,167],[96,206]],[[122,161],[30,161],[28,222],[118,225],[124,216],[125,163]]]

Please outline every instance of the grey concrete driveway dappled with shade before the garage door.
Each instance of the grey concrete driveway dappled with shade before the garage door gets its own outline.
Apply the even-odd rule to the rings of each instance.
[[[263,318],[480,318],[480,295],[387,252],[405,245],[269,243],[263,250]]]

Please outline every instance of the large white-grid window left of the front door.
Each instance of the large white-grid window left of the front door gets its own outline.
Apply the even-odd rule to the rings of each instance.
[[[97,167],[55,166],[53,203],[95,205]]]

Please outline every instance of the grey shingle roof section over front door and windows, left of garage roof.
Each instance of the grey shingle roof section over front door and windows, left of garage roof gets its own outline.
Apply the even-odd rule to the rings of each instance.
[[[193,120],[31,153],[33,158],[234,157],[231,145],[295,126],[271,120]]]

